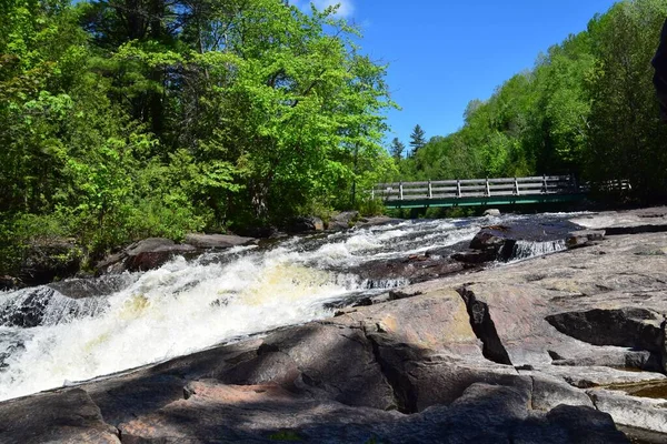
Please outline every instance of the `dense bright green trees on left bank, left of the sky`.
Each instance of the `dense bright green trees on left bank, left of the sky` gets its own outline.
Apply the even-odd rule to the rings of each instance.
[[[40,238],[99,256],[362,204],[394,104],[335,12],[0,0],[0,272]]]

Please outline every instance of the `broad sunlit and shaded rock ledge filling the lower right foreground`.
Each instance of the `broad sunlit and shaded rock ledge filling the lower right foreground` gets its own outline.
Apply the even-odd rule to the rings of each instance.
[[[586,248],[1,403],[1,441],[666,442],[665,216],[586,216],[619,230]]]

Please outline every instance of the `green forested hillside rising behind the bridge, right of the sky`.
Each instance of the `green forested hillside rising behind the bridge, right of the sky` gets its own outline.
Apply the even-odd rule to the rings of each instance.
[[[615,4],[490,99],[472,100],[458,132],[422,147],[414,142],[424,134],[412,134],[416,149],[399,161],[397,178],[573,173],[594,182],[628,179],[636,199],[664,200],[667,125],[659,120],[650,61],[665,18],[665,0]],[[396,159],[401,147],[391,143]]]

